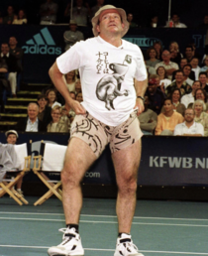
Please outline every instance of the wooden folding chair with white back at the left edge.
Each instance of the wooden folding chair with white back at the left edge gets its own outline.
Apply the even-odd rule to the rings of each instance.
[[[32,143],[32,142],[30,142]],[[19,192],[16,192],[14,186],[18,183],[20,179],[22,179],[26,172],[30,171],[31,165],[31,154],[30,152],[31,147],[28,147],[27,143],[14,145],[14,149],[17,155],[17,163],[15,163],[15,169],[11,171],[7,171],[7,175],[14,175],[16,176],[14,179],[3,179],[0,183],[0,197],[3,196],[5,193],[8,193],[17,203],[23,205],[28,204],[28,201],[21,195]]]

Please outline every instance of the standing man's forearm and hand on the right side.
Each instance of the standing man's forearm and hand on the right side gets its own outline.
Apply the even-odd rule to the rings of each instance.
[[[139,81],[135,79],[135,89],[136,89],[137,97],[138,96],[144,97],[147,87],[148,87],[148,79],[145,79],[143,81]],[[140,115],[144,111],[145,107],[144,107],[144,102],[142,98],[136,99],[136,104],[134,109],[136,108],[138,108],[138,115]]]

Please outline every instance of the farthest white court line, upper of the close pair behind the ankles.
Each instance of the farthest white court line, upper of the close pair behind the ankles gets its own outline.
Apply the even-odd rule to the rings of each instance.
[[[54,216],[64,216],[63,213],[41,213],[41,212],[11,212],[11,211],[0,211],[0,214],[24,214],[24,215],[54,215]],[[91,215],[91,214],[81,214],[81,217],[115,217],[116,215]],[[166,220],[184,220],[184,221],[208,221],[205,218],[171,218],[171,217],[142,217],[142,216],[135,216],[134,218],[139,219],[166,219]]]

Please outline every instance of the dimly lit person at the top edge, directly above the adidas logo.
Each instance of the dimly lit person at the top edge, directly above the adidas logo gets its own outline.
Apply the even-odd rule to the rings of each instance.
[[[50,25],[56,22],[57,4],[46,0],[40,7],[41,25]]]

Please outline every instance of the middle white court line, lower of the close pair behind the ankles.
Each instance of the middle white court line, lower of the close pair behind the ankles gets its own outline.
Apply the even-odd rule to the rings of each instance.
[[[0,219],[9,220],[30,220],[30,221],[52,221],[62,222],[64,219],[47,219],[47,218],[16,218],[16,217],[0,217]],[[96,220],[80,220],[82,223],[100,223],[100,224],[117,224],[117,221],[96,221]],[[160,225],[160,226],[187,226],[187,227],[208,227],[208,225],[196,224],[172,224],[172,223],[147,223],[147,222],[132,222],[133,225]]]

